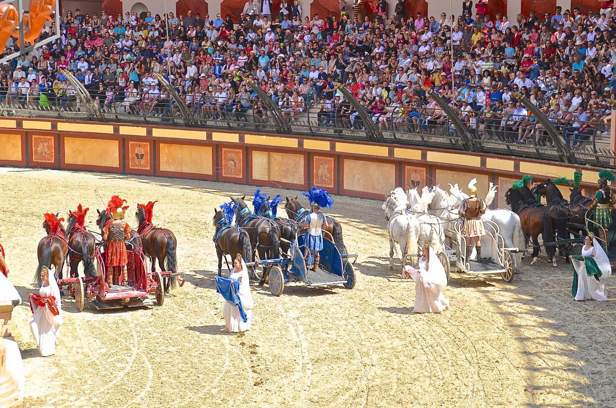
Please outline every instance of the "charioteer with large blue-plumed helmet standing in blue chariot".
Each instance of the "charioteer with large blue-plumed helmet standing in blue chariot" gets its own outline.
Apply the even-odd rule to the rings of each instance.
[[[302,226],[308,229],[304,235],[304,245],[310,250],[310,255],[306,256],[306,264],[309,267],[312,264],[312,270],[316,271],[323,250],[323,226],[328,226],[327,217],[320,212],[320,209],[321,207],[331,208],[334,200],[325,189],[319,189],[317,186],[313,186],[302,195],[308,197],[310,202],[310,212],[301,221]],[[314,259],[312,254],[314,254]]]

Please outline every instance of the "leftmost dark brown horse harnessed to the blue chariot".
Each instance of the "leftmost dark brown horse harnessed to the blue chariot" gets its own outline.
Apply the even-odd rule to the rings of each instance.
[[[231,222],[225,217],[224,211],[219,211],[216,208],[214,208],[213,225],[216,228],[213,241],[216,247],[216,255],[218,255],[219,276],[222,274],[222,257],[225,255],[235,258],[235,255],[240,254],[246,263],[253,261],[254,251],[250,244],[250,236],[245,229],[231,226]]]

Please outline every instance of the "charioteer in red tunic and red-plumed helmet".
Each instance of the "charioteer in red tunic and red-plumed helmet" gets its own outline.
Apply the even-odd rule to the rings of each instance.
[[[131,227],[124,221],[124,211],[128,208],[128,205],[124,206],[124,203],[126,200],[114,195],[107,204],[107,214],[111,216],[111,219],[103,227],[103,240],[107,241],[105,253],[107,254],[108,285],[128,284],[126,271],[128,253],[124,241],[131,238]]]

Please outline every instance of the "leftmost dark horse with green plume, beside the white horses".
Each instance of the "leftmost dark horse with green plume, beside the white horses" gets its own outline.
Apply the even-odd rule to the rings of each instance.
[[[522,187],[528,190],[527,187]],[[554,243],[554,233],[552,227],[551,218],[548,214],[544,213],[544,208],[541,203],[538,203],[533,199],[534,205],[529,205],[527,201],[528,197],[519,190],[509,189],[505,193],[505,202],[511,206],[511,210],[520,217],[522,224],[522,231],[526,239],[531,239],[533,242],[533,260],[530,263],[534,265],[537,263],[537,256],[539,255],[539,235],[543,238],[543,245],[545,247],[546,255],[548,259],[552,261],[552,265],[556,267],[556,247],[549,245]]]

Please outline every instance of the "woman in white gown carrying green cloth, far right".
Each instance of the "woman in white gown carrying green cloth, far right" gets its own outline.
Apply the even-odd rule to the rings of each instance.
[[[586,235],[582,255],[571,255],[569,258],[575,268],[571,286],[573,300],[606,301],[606,280],[612,274],[612,265],[594,235]]]

